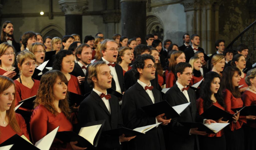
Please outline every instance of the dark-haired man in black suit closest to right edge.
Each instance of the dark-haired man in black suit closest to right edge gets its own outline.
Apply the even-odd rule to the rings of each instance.
[[[245,69],[243,69],[243,72],[246,73],[247,71],[251,70],[252,69],[252,63],[247,58],[248,53],[249,53],[248,46],[245,45],[245,44],[240,44],[240,45],[237,46],[236,51],[237,51],[238,54],[244,55],[245,59],[247,60],[246,61],[246,66],[245,66]],[[250,57],[249,57],[249,59],[250,59]]]

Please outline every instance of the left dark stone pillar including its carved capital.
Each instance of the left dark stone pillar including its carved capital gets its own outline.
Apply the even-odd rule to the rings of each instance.
[[[82,39],[82,14],[88,9],[87,0],[59,0],[60,9],[65,13],[66,35],[77,34]]]

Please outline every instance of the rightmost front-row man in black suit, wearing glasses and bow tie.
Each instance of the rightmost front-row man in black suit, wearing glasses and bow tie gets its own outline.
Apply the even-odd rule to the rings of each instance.
[[[176,84],[164,95],[164,99],[172,106],[191,103],[179,118],[173,118],[169,124],[169,149],[187,150],[199,149],[197,135],[205,135],[206,132],[198,131],[197,128],[186,128],[180,122],[201,122],[211,123],[213,120],[204,120],[197,113],[195,91],[188,89],[192,79],[192,66],[189,63],[181,62],[175,67],[177,76]]]

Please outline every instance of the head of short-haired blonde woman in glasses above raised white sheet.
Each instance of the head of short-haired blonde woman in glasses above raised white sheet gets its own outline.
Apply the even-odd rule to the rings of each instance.
[[[41,43],[33,43],[29,47],[29,51],[32,52],[36,57],[36,67],[44,62],[45,57],[45,47]]]

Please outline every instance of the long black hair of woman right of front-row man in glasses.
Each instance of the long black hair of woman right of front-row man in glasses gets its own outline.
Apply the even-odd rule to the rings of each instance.
[[[203,108],[204,111],[206,111],[208,108],[210,108],[213,105],[213,101],[211,99],[212,96],[212,92],[211,92],[211,83],[213,81],[214,78],[219,78],[221,80],[220,74],[210,71],[208,73],[206,73],[204,81],[203,81],[203,85],[200,88],[200,95],[201,98],[204,99],[203,102]],[[215,98],[217,99],[217,102],[222,106],[222,107],[226,107],[225,103],[224,103],[224,99],[222,96],[222,89],[219,88],[218,92],[214,94]]]

